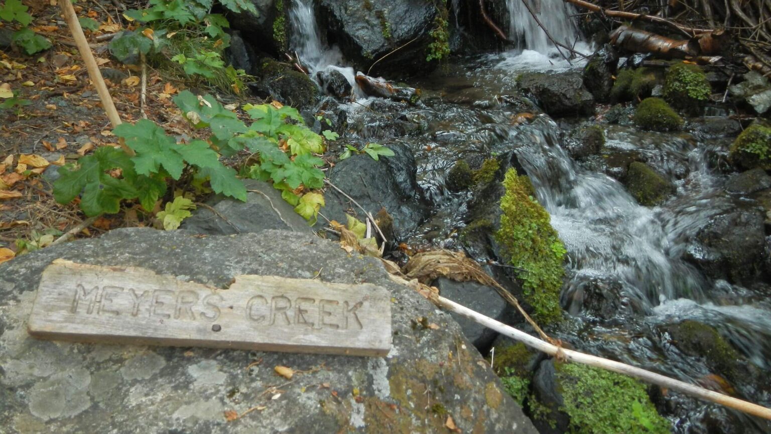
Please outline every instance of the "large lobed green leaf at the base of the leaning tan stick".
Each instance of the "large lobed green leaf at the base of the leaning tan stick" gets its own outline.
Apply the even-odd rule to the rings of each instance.
[[[136,124],[120,124],[113,132],[126,140],[126,145],[136,152],[131,159],[140,175],[158,173],[163,167],[174,179],[179,179],[185,162],[173,137],[149,119],[140,119]]]

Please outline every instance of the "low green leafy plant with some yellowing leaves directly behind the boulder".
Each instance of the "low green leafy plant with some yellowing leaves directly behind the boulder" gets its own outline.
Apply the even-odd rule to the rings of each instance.
[[[254,120],[247,126],[210,95],[196,96],[185,90],[174,97],[174,103],[195,128],[210,128],[207,141],[180,143],[146,119],[121,124],[114,132],[135,155],[99,147],[80,158],[77,165],[64,166],[54,182],[56,200],[66,203],[80,196],[86,215],[118,212],[121,201],[134,198],[150,210],[166,192],[169,178],[185,178],[198,186],[209,181],[214,192],[245,201],[246,188],[237,172],[219,158],[247,149],[258,163],[244,174],[273,181],[295,211],[315,219],[324,198],[311,190],[324,185],[324,172],[319,167],[325,163],[313,154],[325,151],[325,145],[321,136],[305,127],[297,110],[247,104],[247,113]]]

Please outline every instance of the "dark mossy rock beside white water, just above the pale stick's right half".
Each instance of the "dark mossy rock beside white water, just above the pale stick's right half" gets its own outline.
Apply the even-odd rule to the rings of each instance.
[[[694,320],[685,320],[668,328],[675,346],[685,354],[703,357],[710,368],[726,378],[736,379],[739,373],[739,351],[715,329]]]

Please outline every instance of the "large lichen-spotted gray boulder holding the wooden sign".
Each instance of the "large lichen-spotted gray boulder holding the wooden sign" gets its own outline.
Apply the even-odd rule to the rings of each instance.
[[[26,322],[57,258],[215,287],[244,273],[374,283],[392,293],[393,348],[364,358],[36,340]],[[416,327],[421,317],[439,328]],[[277,365],[305,373],[288,381]],[[0,265],[3,433],[446,432],[448,416],[463,432],[535,434],[449,314],[393,283],[377,259],[310,234],[119,229]]]

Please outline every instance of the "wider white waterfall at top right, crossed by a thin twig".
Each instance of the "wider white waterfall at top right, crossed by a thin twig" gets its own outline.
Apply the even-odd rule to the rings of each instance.
[[[507,0],[506,6],[510,15],[509,37],[516,39],[521,49],[531,49],[538,53],[548,53],[550,49],[554,49],[554,44],[527,10],[525,2],[557,42],[574,46],[574,43],[581,39],[570,16],[571,7],[563,0]]]

